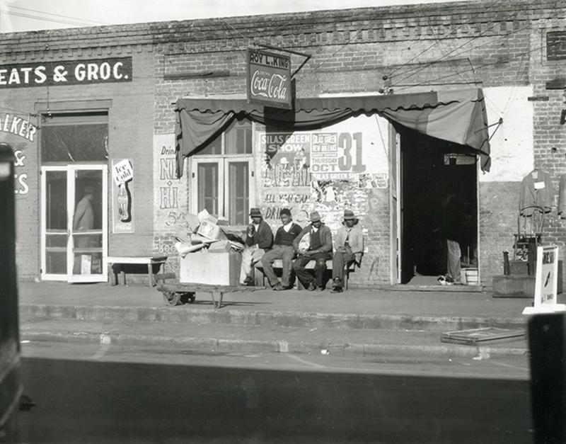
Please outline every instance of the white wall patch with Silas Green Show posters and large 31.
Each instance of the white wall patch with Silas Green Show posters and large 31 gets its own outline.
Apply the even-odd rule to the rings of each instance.
[[[375,116],[350,118],[324,130],[259,132],[258,151],[265,153],[261,178],[265,219],[277,220],[279,210],[289,207],[301,223],[313,203],[347,204],[336,195],[344,188],[341,183],[346,188],[386,188],[387,136],[387,121]]]

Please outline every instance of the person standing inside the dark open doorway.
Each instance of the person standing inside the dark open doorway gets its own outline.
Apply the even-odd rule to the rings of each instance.
[[[463,203],[456,194],[449,194],[444,205],[444,217],[441,227],[446,238],[446,275],[439,276],[441,285],[461,283],[461,249],[460,241],[463,237]]]

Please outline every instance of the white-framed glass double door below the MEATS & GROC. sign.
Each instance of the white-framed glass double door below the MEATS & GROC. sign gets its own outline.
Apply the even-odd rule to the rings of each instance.
[[[108,280],[108,166],[42,166],[41,278]]]

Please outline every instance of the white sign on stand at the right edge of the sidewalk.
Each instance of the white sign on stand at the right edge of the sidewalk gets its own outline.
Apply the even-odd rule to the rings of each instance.
[[[558,246],[538,246],[533,307],[525,307],[523,314],[564,311],[566,305],[558,304]]]

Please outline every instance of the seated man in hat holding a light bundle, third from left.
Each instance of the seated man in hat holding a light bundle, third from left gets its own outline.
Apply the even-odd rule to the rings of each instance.
[[[310,219],[311,224],[304,227],[293,241],[298,254],[293,269],[304,288],[308,291],[322,291],[326,261],[332,258],[332,233],[320,220],[318,211],[311,212]],[[314,277],[305,269],[310,261],[315,261]]]

